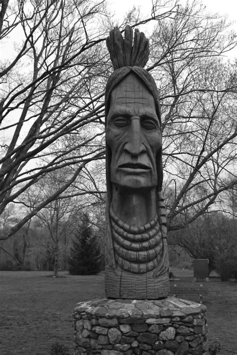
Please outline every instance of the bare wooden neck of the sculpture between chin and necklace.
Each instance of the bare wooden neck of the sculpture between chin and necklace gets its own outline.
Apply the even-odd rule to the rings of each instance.
[[[112,210],[129,226],[149,223],[156,214],[155,188],[126,189],[112,185]]]

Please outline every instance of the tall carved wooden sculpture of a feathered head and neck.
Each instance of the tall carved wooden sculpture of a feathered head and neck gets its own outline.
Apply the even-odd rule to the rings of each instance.
[[[143,69],[148,40],[126,26],[107,38],[113,73],[105,90],[107,298],[168,295],[158,92]]]

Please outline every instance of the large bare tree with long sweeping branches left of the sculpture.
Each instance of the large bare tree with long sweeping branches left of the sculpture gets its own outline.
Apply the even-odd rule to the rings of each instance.
[[[127,18],[139,24],[173,11],[159,8],[140,22],[134,11]],[[0,213],[44,174],[65,166],[73,174],[1,238],[60,196],[89,162],[104,158],[103,95],[111,67],[104,40],[110,25],[104,0],[2,2],[0,39],[20,39],[13,58],[0,62]]]

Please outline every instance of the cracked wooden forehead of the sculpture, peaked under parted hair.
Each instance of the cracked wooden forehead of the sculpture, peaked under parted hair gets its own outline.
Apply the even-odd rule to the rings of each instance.
[[[111,91],[109,111],[123,109],[138,114],[140,110],[155,112],[155,103],[152,94],[145,85],[133,74],[127,75]]]

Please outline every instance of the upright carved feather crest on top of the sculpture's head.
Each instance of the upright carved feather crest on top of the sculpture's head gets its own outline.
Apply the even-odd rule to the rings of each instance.
[[[133,40],[133,43],[132,43]],[[126,26],[124,30],[124,39],[118,27],[114,27],[106,39],[106,45],[109,51],[113,69],[123,66],[145,66],[149,56],[149,41],[144,33]]]

